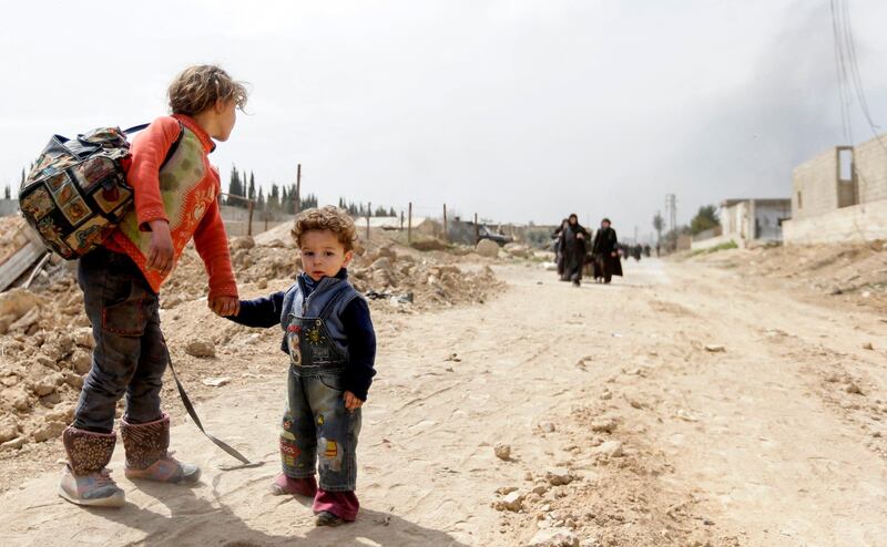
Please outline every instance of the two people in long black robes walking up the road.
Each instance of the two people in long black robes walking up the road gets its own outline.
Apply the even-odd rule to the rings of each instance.
[[[622,276],[616,230],[611,227],[609,218],[601,220],[601,227],[592,239],[579,224],[579,217],[570,215],[554,231],[553,238],[561,281],[571,281],[579,287],[583,272],[591,274],[595,282],[603,283],[609,283],[613,276]]]

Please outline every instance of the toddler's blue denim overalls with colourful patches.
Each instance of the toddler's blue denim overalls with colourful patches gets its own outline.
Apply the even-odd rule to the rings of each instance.
[[[302,277],[284,297],[281,326],[289,352],[288,402],[281,431],[284,474],[314,476],[320,488],[350,492],[357,478],[360,409],[345,409],[341,375],[348,365],[343,310],[357,290],[345,279],[323,278],[308,298]]]

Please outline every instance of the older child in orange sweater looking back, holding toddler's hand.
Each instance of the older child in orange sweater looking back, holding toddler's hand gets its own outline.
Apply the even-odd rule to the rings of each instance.
[[[80,505],[120,507],[124,493],[105,468],[116,443],[114,406],[126,394],[120,430],[128,478],[193,484],[200,468],[167,454],[170,417],[160,391],[166,345],[157,292],[193,238],[210,278],[210,308],[236,313],[237,285],[210,164],[213,140],[227,141],[246,90],[217,66],[191,66],[169,90],[171,116],[132,145],[128,180],[135,206],[118,229],[80,259],[78,282],[95,349],[74,422],[62,434],[68,464],[59,494]]]

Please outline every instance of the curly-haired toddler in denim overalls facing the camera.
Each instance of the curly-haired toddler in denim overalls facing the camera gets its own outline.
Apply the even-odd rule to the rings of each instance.
[[[360,506],[355,452],[360,406],[376,374],[376,334],[366,300],[348,282],[354,220],[336,207],[308,209],[292,234],[304,269],[296,283],[242,301],[228,319],[284,329],[281,349],[289,354],[289,373],[279,441],[283,473],[272,491],[314,497],[317,525],[336,526],[357,518]]]

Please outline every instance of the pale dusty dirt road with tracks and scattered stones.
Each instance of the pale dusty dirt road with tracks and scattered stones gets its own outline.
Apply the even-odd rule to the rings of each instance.
[[[307,503],[267,491],[274,333],[253,339],[245,381],[198,405],[265,465],[220,471],[227,456],[181,424],[201,485],[132,484],[118,451],[125,508],[74,507],[43,474],[0,496],[0,545],[512,546],[540,527],[589,546],[887,545],[887,322],[871,311],[691,264],[632,261],[581,289],[497,274],[509,289],[482,306],[376,314],[358,523],[316,529]],[[497,510],[499,488],[518,488],[519,512]]]

